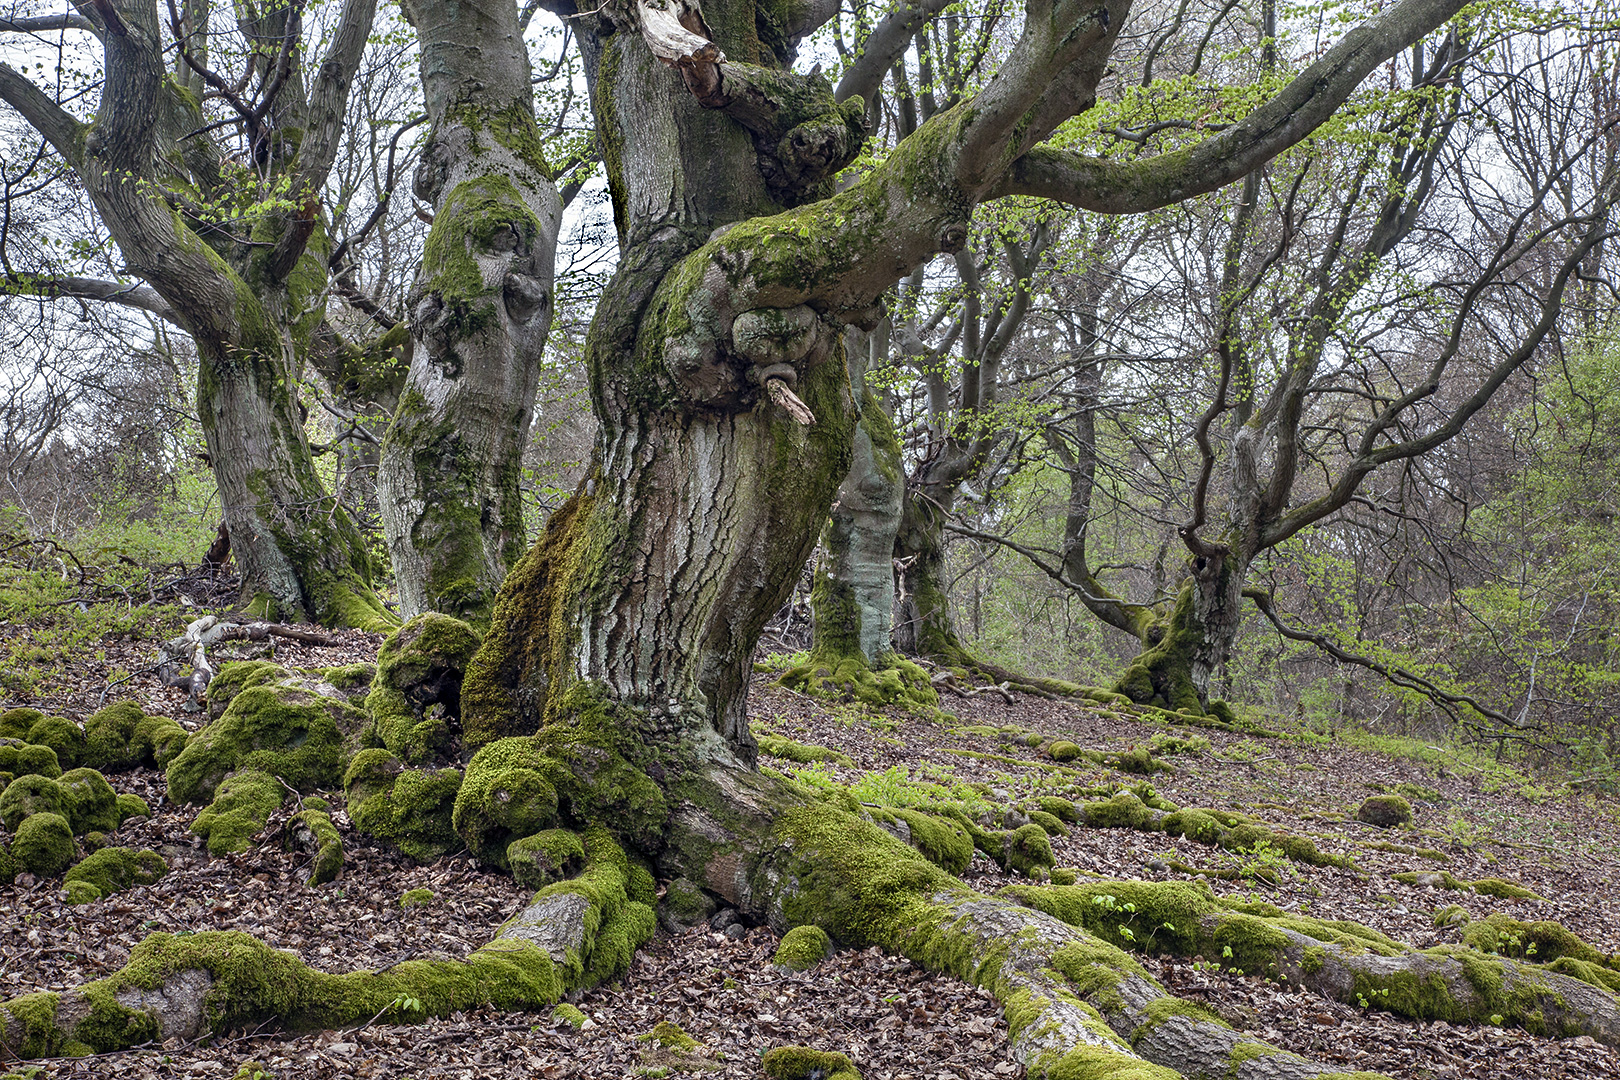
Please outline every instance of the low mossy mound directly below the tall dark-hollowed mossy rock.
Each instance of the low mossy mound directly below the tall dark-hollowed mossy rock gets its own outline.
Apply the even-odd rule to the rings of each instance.
[[[462,790],[457,769],[407,769],[387,750],[361,750],[343,774],[348,818],[368,836],[418,863],[462,850],[452,811]]]

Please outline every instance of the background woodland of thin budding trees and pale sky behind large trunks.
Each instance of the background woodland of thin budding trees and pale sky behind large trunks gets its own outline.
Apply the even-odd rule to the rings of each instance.
[[[1097,105],[1055,142],[1129,160],[1220,133],[1358,10],[1137,5]],[[901,28],[876,73],[868,44],[899,32],[881,5],[842,8],[800,47],[799,68],[818,62],[841,97],[850,86],[868,102],[872,138],[846,183],[982,87],[1022,19],[998,2],[943,11]],[[204,13],[162,18],[193,40]],[[880,593],[897,588],[901,653],[991,682],[1113,687],[1152,644],[1144,612],[1168,617],[1200,546],[1252,536],[1233,588],[1254,602],[1209,698],[1324,732],[1484,742],[1614,782],[1610,15],[1487,5],[1383,65],[1247,180],[1149,214],[1027,196],[982,206],[959,253],[912,272],[878,327],[847,338],[897,442],[904,523],[876,573]],[[16,73],[68,115],[94,100],[99,57],[75,16],[28,3],[5,16],[8,100]],[[206,133],[225,162],[181,207],[201,235],[253,236],[293,206],[245,120],[277,92],[293,40],[277,18],[215,18],[170,57],[201,120],[180,142]],[[330,45],[335,10],[293,18],[305,52]],[[530,3],[522,23],[564,207],[554,316],[518,432],[533,538],[591,457],[582,350],[619,241],[569,19]],[[408,395],[402,327],[420,321],[429,223],[446,212],[420,180],[416,42],[382,10],[360,52],[319,189],[322,282],[305,301],[326,345],[293,364],[318,481],[379,572],[379,470]],[[225,520],[198,345],[37,123],[3,110],[0,128],[0,549],[32,583],[5,614],[91,596],[138,606],[194,570]],[[839,508],[859,502],[846,491]],[[816,567],[847,557],[838,536],[766,651],[813,648],[810,591]],[[376,581],[394,604],[387,573]],[[162,599],[207,602],[183,593]],[[928,625],[954,633],[954,651],[919,633]],[[29,656],[10,648],[5,678],[49,678],[21,674]]]

